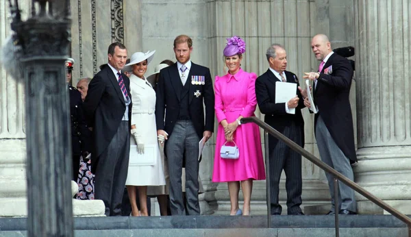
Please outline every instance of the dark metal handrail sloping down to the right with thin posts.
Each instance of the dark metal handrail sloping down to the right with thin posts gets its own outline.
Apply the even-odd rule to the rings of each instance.
[[[367,190],[365,190],[364,188],[362,188],[361,186],[359,186],[355,182],[351,181],[349,178],[345,177],[344,175],[342,175],[341,173],[339,173],[335,169],[332,169],[331,166],[325,164],[323,161],[319,160],[319,158],[316,158],[314,155],[312,155],[312,153],[306,151],[305,149],[303,149],[302,147],[297,145],[297,143],[293,142],[292,140],[290,140],[289,138],[284,136],[282,133],[278,132],[276,129],[273,129],[273,127],[271,127],[268,124],[264,123],[262,120],[260,120],[260,118],[257,118],[257,117],[241,118],[241,123],[256,123],[262,129],[264,129],[264,131],[268,132],[269,134],[271,134],[272,136],[274,136],[278,140],[282,140],[282,142],[286,143],[286,145],[288,145],[288,147],[290,147],[292,150],[296,151],[297,153],[299,153],[300,155],[305,157],[307,160],[310,160],[310,162],[314,163],[316,166],[319,166],[321,169],[323,169],[323,171],[326,171],[327,173],[330,173],[330,174],[334,175],[334,178],[339,179],[341,182],[343,182],[344,184],[346,184],[347,186],[349,186],[350,188],[352,188],[356,192],[360,193],[360,195],[366,197],[366,199],[369,199],[369,201],[372,201],[373,203],[378,205],[380,208],[386,210],[387,212],[389,212],[393,216],[397,217],[397,219],[399,219],[400,221],[403,221],[403,223],[406,223],[406,225],[408,226],[408,237],[411,237],[411,219],[408,216],[406,216],[405,214],[402,214],[401,212],[395,210],[393,207],[388,205],[386,202],[384,202],[381,199],[375,197],[373,194],[371,194],[371,192],[368,192]],[[266,142],[266,145],[267,145],[267,142]],[[269,160],[268,157],[266,157],[266,160]],[[269,169],[269,167],[267,167],[266,169]],[[267,177],[267,180],[269,180],[269,177]],[[338,184],[338,182],[337,182],[337,184]],[[269,191],[267,191],[267,192],[269,192]],[[270,200],[267,200],[268,203],[269,203],[269,201]],[[338,201],[338,200],[336,200],[336,201]],[[269,206],[268,203],[267,203],[267,206]],[[271,216],[271,215],[269,214],[269,216]],[[336,212],[336,216],[338,216],[338,212]],[[338,217],[336,217],[336,218],[338,218]],[[271,219],[271,218],[269,218],[269,219]],[[338,236],[338,233],[336,233],[336,235]]]

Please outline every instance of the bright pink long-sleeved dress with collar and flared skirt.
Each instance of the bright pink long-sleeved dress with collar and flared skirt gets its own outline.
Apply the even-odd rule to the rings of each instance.
[[[234,142],[238,146],[240,157],[236,160],[223,159],[220,156],[221,146],[225,143],[224,128],[221,121],[236,121],[238,116],[255,116],[257,99],[255,91],[257,75],[240,71],[236,75],[216,76],[215,110],[219,121],[217,131],[216,153],[212,182],[231,182],[246,179],[265,179],[264,161],[262,158],[260,129],[255,123],[239,125],[234,132]],[[227,145],[234,145],[227,142]]]

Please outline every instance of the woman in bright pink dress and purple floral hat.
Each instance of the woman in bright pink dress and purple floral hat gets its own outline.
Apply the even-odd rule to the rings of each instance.
[[[255,116],[257,99],[256,73],[240,68],[245,42],[234,36],[227,38],[223,54],[228,73],[215,79],[215,110],[219,121],[212,182],[227,182],[231,215],[250,214],[253,180],[265,179],[260,129],[254,123],[241,124],[242,117]],[[220,149],[226,145],[237,146],[238,159],[221,158]],[[238,206],[238,192],[242,189],[244,205]]]

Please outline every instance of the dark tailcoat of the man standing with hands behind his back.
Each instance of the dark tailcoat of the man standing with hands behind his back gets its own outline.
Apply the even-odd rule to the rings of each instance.
[[[123,73],[123,81],[130,97],[130,80]],[[92,127],[92,164],[97,164],[99,155],[110,144],[125,113],[125,100],[119,82],[110,66],[105,66],[88,85],[84,101],[84,114],[88,127]],[[132,103],[129,104],[131,128]]]

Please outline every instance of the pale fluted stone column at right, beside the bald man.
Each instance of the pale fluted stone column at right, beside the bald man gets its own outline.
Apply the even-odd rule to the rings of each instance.
[[[409,1],[356,1],[356,182],[411,214]],[[386,214],[358,195],[360,214]]]

